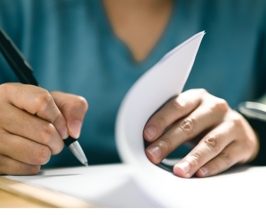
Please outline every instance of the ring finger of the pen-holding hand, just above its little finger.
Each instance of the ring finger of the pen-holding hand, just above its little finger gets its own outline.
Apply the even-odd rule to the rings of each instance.
[[[23,163],[43,165],[50,160],[51,150],[44,144],[36,143],[8,132],[2,132],[0,154]]]

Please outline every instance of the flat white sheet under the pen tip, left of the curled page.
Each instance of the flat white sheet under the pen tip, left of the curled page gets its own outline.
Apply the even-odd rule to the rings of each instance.
[[[155,208],[125,164],[46,170],[35,176],[5,176],[25,184],[67,194],[99,207]]]

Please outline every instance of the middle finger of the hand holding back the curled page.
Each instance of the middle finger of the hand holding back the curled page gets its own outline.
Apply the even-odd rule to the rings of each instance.
[[[181,144],[192,140],[206,129],[220,123],[223,114],[213,114],[205,106],[200,105],[185,119],[175,123],[159,139],[146,148],[146,155],[152,163],[161,162],[168,154]]]

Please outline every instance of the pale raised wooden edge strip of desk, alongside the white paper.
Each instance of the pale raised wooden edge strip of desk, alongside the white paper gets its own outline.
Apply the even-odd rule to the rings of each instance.
[[[78,198],[30,186],[2,176],[0,177],[0,190],[42,204],[46,208],[96,208]]]

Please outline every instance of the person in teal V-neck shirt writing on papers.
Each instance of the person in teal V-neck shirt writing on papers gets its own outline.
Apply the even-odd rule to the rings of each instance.
[[[44,87],[16,83],[0,57],[0,174],[78,165],[63,149],[68,135],[89,164],[119,162],[114,123],[123,96],[202,30],[184,92],[143,130],[146,155],[156,164],[174,151],[183,157],[174,173],[184,178],[255,159],[260,137],[232,108],[266,93],[265,14],[264,0],[0,0],[0,27]]]

